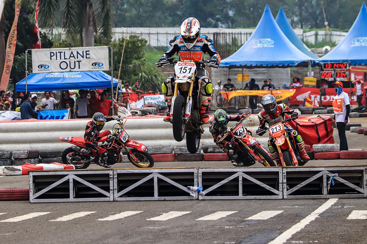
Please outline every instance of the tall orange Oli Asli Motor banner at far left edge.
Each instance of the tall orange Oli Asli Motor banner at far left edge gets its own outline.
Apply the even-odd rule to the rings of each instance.
[[[15,45],[17,43],[17,25],[18,25],[19,12],[21,10],[21,1],[22,0],[15,0],[15,17],[8,36],[8,41],[6,43],[5,63],[4,63],[3,75],[1,76],[0,90],[6,90],[8,86],[11,67],[14,61]]]

